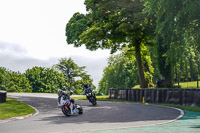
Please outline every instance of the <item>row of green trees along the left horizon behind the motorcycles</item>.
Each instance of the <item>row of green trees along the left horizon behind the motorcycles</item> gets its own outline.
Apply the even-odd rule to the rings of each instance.
[[[62,65],[63,67],[61,67]],[[58,89],[67,86],[74,88],[75,94],[82,94],[83,83],[85,82],[95,88],[90,75],[87,75],[84,71],[85,67],[77,66],[71,58],[63,58],[54,66],[58,67],[59,71],[56,67],[36,66],[27,69],[25,73],[20,73],[0,67],[0,90],[56,93]],[[66,73],[65,70],[70,70],[70,72]],[[79,79],[75,79],[76,77],[79,77]]]

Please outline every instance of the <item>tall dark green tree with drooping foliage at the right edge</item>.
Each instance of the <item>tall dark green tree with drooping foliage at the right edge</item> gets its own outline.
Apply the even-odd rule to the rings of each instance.
[[[166,86],[173,86],[173,71],[177,63],[183,64],[188,39],[199,47],[199,0],[144,0],[145,11],[156,19],[156,40],[159,68]],[[196,53],[197,55],[198,53]],[[181,65],[180,65],[181,66]],[[182,68],[182,67],[181,67]]]

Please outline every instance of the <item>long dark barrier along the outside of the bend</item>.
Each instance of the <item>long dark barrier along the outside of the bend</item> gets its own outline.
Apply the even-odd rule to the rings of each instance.
[[[200,89],[110,89],[110,99],[200,106]]]

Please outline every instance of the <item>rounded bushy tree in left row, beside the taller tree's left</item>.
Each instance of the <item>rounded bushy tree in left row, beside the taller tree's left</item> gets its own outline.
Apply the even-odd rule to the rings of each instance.
[[[25,72],[32,87],[32,92],[55,93],[67,83],[64,75],[52,68],[33,67]]]

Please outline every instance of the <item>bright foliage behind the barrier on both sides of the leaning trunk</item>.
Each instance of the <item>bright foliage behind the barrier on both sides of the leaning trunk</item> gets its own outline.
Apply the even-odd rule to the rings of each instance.
[[[156,80],[159,77],[155,52],[156,50],[152,47],[141,46],[142,60],[145,62],[145,77],[148,80],[149,87],[155,87]],[[155,62],[154,64],[151,57]],[[104,68],[103,72],[103,77],[99,82],[99,93],[108,94],[110,88],[127,89],[139,84],[136,58],[133,50],[129,48],[124,48],[119,54],[111,55],[108,58],[108,66]]]

